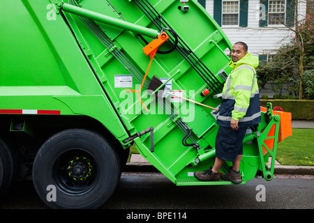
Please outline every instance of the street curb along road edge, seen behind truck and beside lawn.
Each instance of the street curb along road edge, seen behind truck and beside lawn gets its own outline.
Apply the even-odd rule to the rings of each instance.
[[[127,162],[122,171],[126,172],[160,172],[149,162]],[[275,165],[274,174],[314,175],[313,166]]]

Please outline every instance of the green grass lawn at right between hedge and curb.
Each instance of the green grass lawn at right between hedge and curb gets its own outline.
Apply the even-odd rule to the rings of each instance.
[[[278,143],[276,160],[282,165],[314,165],[314,129],[292,129],[292,136]]]

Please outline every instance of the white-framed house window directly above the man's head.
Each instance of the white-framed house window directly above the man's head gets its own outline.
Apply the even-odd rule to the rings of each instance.
[[[239,1],[223,1],[223,26],[239,25]]]

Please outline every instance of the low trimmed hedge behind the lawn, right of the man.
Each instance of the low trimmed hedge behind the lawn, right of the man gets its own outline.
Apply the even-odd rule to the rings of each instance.
[[[283,112],[291,112],[294,120],[314,120],[314,100],[260,100],[260,106],[266,107],[267,102],[271,102],[273,109],[279,106]]]

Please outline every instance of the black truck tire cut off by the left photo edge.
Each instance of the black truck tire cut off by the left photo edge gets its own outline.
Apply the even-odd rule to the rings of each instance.
[[[0,195],[10,185],[15,171],[15,160],[10,146],[0,138]]]

